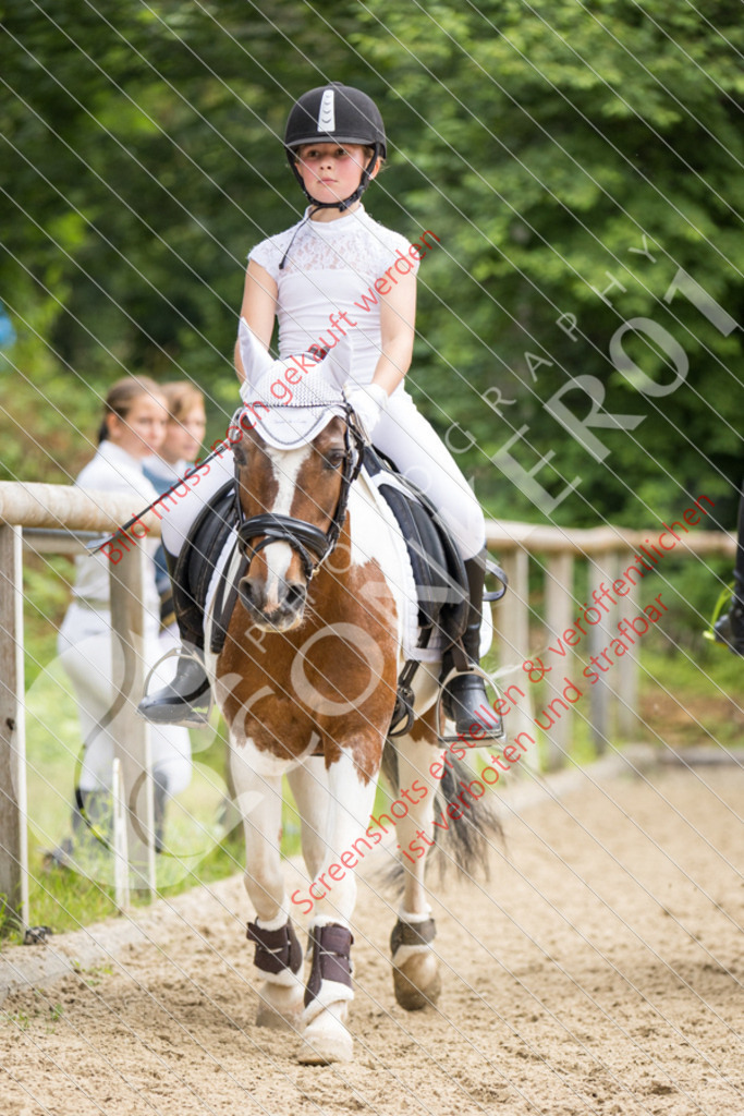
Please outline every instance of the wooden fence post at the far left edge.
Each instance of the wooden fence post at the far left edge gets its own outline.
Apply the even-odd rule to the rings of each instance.
[[[0,523],[0,907],[28,926],[23,566],[20,527]]]

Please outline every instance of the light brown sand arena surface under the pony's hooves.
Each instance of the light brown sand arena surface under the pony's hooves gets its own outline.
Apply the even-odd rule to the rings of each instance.
[[[394,914],[363,881],[354,1064],[301,1067],[253,1026],[233,879],[171,901],[108,972],[4,1000],[3,1116],[741,1116],[744,771],[647,780],[505,811],[491,881],[437,889],[438,1009],[395,1003]]]

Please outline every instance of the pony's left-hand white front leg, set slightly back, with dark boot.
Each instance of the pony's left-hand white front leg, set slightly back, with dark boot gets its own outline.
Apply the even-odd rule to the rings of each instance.
[[[255,944],[253,964],[262,978],[259,1027],[292,1030],[301,1026],[302,947],[288,913],[281,870],[281,775],[259,775],[260,756],[247,757],[249,743],[232,750],[232,775],[245,834],[245,888],[257,912],[248,924]]]

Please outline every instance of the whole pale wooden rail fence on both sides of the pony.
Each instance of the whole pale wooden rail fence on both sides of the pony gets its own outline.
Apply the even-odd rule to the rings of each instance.
[[[0,482],[0,896],[15,918],[28,925],[28,852],[26,801],[26,737],[23,685],[23,590],[22,554],[83,554],[85,532],[113,533],[132,514],[128,498],[108,493],[90,493],[67,485]],[[152,536],[160,533],[154,514],[144,518]],[[524,660],[540,655],[540,646],[530,646],[529,575],[530,561],[543,570],[545,594],[545,639],[561,636],[574,619],[574,571],[578,561],[589,567],[589,594],[600,583],[611,583],[630,561],[630,556],[646,541],[648,532],[620,528],[573,530],[535,527],[529,523],[501,522],[489,525],[489,545],[500,556],[510,579],[510,591],[497,605],[495,623],[499,632],[502,665],[515,667],[504,679],[504,685],[528,689]],[[719,532],[690,532],[675,548],[680,555],[729,555],[735,551],[733,538]],[[625,562],[625,565],[624,565]],[[136,702],[143,691],[143,552],[132,547],[116,565],[110,566],[112,620],[115,637],[129,656],[131,684],[123,694],[124,709],[118,724],[117,760],[120,766],[123,798],[131,802],[132,789],[142,785],[142,772],[149,772],[147,724],[136,716]],[[712,596],[715,590],[712,583]],[[637,588],[624,598],[624,615],[637,605]],[[636,609],[637,610],[637,609]],[[610,613],[602,624],[591,628],[589,650],[607,645],[609,625],[617,618]],[[592,651],[593,653],[593,651]],[[561,661],[558,680],[572,679],[571,655]],[[548,702],[558,696],[561,685],[548,683]],[[559,767],[569,750],[572,706],[561,715],[548,735],[548,767]],[[638,711],[638,658],[629,653],[618,662],[607,682],[591,687],[589,719],[595,743],[601,751],[615,737],[630,737],[636,729]],[[521,711],[524,715],[524,709]],[[587,715],[584,713],[584,715]],[[515,725],[510,725],[512,730]],[[127,811],[129,870],[136,873],[154,891],[154,852],[152,841],[143,846],[138,836],[153,831],[152,783],[146,779],[144,826],[133,826]],[[125,873],[128,876],[128,873]],[[123,902],[126,902],[124,898]]]

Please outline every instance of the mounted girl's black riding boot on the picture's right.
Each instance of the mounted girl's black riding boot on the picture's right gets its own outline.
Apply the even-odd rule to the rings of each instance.
[[[485,584],[485,547],[475,558],[465,562],[470,610],[467,627],[462,637],[467,662],[477,666],[481,658],[481,620],[483,616],[483,587]],[[455,665],[452,652],[446,652],[442,663],[442,677],[446,677]],[[503,735],[501,718],[494,713],[485,692],[485,681],[474,671],[456,674],[444,691],[444,712],[455,722],[457,733],[467,735],[474,723],[485,728],[485,735],[479,740],[499,740]],[[485,706],[485,709],[483,708]],[[487,718],[486,718],[487,713]],[[496,722],[494,724],[494,722]]]

